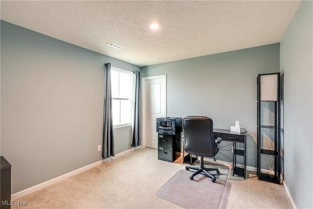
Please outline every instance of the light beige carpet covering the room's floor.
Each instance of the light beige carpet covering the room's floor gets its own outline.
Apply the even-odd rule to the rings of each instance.
[[[157,197],[156,191],[187,164],[182,163],[182,157],[174,163],[157,160],[157,153],[157,149],[142,148],[118,155],[110,162],[13,200],[28,204],[14,204],[11,209],[182,209]],[[195,180],[198,178],[201,176]],[[282,185],[259,181],[255,173],[247,172],[244,179],[232,176],[230,169],[227,182],[231,188],[223,208],[292,209]],[[192,195],[188,189],[186,192]]]

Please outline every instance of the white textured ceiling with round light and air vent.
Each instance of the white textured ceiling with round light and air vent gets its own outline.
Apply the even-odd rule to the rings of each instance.
[[[301,1],[3,1],[1,20],[137,66],[278,43]],[[160,23],[157,31],[150,29]],[[117,50],[106,44],[114,42]]]

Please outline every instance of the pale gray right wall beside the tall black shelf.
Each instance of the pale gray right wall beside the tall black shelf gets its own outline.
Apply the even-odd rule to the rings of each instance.
[[[280,44],[284,181],[297,208],[313,208],[313,1],[302,1]]]

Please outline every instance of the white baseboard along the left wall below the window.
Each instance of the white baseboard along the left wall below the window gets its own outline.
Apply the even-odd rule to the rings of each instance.
[[[126,153],[128,153],[128,152],[132,152],[132,151],[134,151],[134,150],[136,150],[136,149],[139,149],[139,148],[140,148],[140,146],[138,146],[138,147],[136,147],[136,148],[132,148],[132,149],[126,150],[126,151],[121,152],[121,153],[118,153],[118,154],[115,155],[115,157],[122,156],[122,155],[124,155],[124,154],[126,154]],[[68,173],[66,173],[66,174],[63,174],[63,175],[61,175],[61,176],[58,176],[58,177],[56,177],[56,178],[54,178],[54,179],[50,179],[50,180],[48,180],[48,181],[46,181],[46,182],[43,182],[43,183],[41,183],[41,184],[39,184],[39,185],[35,185],[35,186],[32,186],[32,187],[26,188],[26,189],[24,189],[24,190],[22,190],[22,191],[19,191],[19,192],[16,192],[16,193],[14,193],[14,194],[11,194],[11,200],[12,200],[12,201],[16,201],[16,200],[18,200],[19,198],[21,198],[22,196],[25,196],[25,195],[27,195],[27,194],[30,194],[30,193],[32,193],[32,192],[34,192],[34,191],[38,191],[39,189],[42,189],[42,188],[44,188],[44,187],[46,187],[46,186],[52,185],[52,184],[54,184],[54,183],[57,183],[57,182],[59,182],[59,181],[61,181],[61,180],[63,180],[63,179],[66,179],[66,178],[68,178],[68,177],[74,176],[74,175],[76,175],[76,174],[78,174],[78,173],[80,173],[80,172],[83,172],[83,171],[85,171],[85,170],[88,170],[88,169],[90,169],[90,168],[93,168],[93,167],[95,167],[95,166],[97,166],[97,165],[99,165],[99,164],[101,164],[101,163],[103,163],[102,160],[101,160],[101,161],[98,161],[98,162],[95,162],[95,163],[91,163],[91,164],[86,165],[86,166],[84,166],[84,167],[78,168],[78,169],[76,169],[76,170],[73,170],[73,171],[71,171],[71,172],[68,172]]]

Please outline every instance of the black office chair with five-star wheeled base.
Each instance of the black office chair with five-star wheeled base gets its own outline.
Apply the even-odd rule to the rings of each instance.
[[[196,172],[190,176],[190,180],[198,174],[204,174],[211,178],[212,182],[216,178],[208,171],[216,171],[217,175],[220,174],[218,168],[204,168],[203,157],[215,157],[219,151],[219,144],[222,138],[214,138],[213,135],[213,120],[205,116],[186,116],[182,119],[183,127],[183,140],[185,144],[185,151],[191,155],[200,156],[200,167],[186,166],[186,170],[192,169]]]

